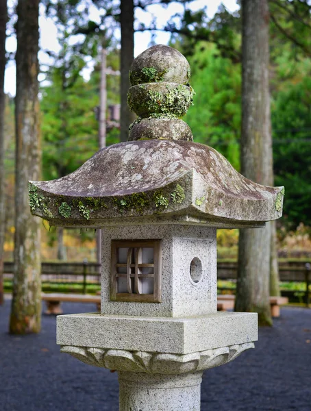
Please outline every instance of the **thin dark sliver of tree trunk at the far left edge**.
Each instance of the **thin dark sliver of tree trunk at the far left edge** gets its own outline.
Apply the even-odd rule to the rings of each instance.
[[[5,187],[4,187],[4,71],[5,29],[8,20],[7,0],[0,0],[0,306],[3,304],[3,247],[5,236]]]

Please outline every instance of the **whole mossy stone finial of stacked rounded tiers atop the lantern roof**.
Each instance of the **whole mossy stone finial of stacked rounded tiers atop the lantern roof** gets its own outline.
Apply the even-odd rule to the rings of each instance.
[[[129,140],[190,140],[190,127],[181,120],[192,104],[190,66],[169,46],[150,47],[134,59],[127,96],[138,119],[129,127]]]

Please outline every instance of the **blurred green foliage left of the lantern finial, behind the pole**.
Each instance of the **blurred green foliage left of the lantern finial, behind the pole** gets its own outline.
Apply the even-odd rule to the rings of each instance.
[[[116,66],[116,61],[115,53],[108,55],[108,64]],[[42,169],[45,179],[55,179],[75,171],[98,150],[99,68],[88,82],[66,66],[52,70],[49,80],[40,102]],[[119,76],[108,76],[108,104],[118,102]],[[107,145],[115,142],[119,142],[119,129],[114,127],[108,131]]]

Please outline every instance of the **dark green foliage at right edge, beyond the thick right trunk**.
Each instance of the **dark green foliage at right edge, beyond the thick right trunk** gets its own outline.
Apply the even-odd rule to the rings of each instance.
[[[297,74],[273,101],[275,184],[286,189],[285,221],[311,225],[310,62],[299,64]]]

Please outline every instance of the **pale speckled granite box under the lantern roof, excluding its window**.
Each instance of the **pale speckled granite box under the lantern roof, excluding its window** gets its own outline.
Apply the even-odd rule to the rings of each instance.
[[[195,316],[216,312],[216,229],[191,225],[137,225],[103,229],[101,313],[139,316]],[[162,240],[162,303],[110,301],[111,240]],[[195,283],[190,264],[199,258]]]

